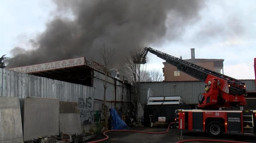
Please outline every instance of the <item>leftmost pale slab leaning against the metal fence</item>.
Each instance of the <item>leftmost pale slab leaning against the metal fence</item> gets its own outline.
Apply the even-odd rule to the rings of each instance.
[[[0,96],[0,143],[23,142],[18,97]]]

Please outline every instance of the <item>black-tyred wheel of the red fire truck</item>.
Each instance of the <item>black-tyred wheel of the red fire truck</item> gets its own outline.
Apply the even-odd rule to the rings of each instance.
[[[223,134],[223,126],[216,121],[207,125],[206,133],[211,137],[220,137]]]

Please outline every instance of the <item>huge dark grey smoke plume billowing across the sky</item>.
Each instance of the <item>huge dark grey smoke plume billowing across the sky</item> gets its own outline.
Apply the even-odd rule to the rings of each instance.
[[[150,46],[149,44],[161,41],[166,35],[171,35],[169,40],[180,35],[177,29],[184,29],[192,19],[198,18],[202,7],[202,1],[179,0],[54,2],[57,5],[56,12],[61,15],[48,22],[46,30],[30,40],[34,49],[12,49],[14,58],[10,60],[8,67],[79,56],[99,62],[98,50],[103,45],[116,49],[115,60],[112,60],[114,67],[133,48]],[[65,17],[67,13],[72,18]],[[172,34],[167,34],[167,29]]]

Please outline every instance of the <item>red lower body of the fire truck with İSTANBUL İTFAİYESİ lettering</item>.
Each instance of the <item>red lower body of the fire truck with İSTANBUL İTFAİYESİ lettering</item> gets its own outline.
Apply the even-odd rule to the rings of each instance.
[[[223,132],[255,134],[256,110],[178,110],[179,129],[203,131],[211,137]]]

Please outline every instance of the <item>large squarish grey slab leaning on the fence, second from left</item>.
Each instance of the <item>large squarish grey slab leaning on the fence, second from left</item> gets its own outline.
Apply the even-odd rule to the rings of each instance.
[[[59,99],[27,97],[24,104],[24,141],[59,135]]]

